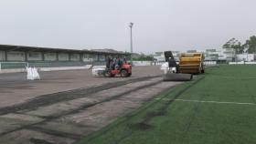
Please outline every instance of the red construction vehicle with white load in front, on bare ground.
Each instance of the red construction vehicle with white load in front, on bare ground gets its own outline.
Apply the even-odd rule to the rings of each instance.
[[[132,65],[123,63],[121,67],[110,66],[107,62],[106,67],[92,67],[92,75],[96,77],[131,77],[132,76]]]

